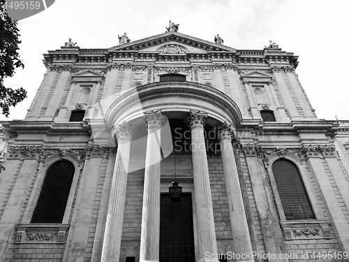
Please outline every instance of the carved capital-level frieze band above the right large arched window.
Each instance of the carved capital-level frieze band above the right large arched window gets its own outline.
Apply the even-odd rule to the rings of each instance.
[[[299,159],[337,156],[334,145],[302,145],[301,148],[263,148],[257,143],[248,143],[246,145],[235,143],[234,148],[237,153],[243,154],[245,157],[259,157],[261,159],[268,159],[274,153],[279,154],[279,158],[285,158],[285,154],[290,153],[299,157]]]

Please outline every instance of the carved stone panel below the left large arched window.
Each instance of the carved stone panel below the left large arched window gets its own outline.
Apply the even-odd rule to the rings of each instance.
[[[17,224],[15,244],[64,244],[69,224]]]

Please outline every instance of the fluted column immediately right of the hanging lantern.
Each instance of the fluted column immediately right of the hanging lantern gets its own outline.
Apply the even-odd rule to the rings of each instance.
[[[217,254],[216,232],[214,230],[214,211],[212,208],[211,187],[209,185],[209,166],[207,163],[204,137],[204,124],[206,118],[206,113],[191,110],[191,116],[188,119],[191,127],[199,261],[208,261],[207,254]],[[214,261],[218,260],[215,259]]]

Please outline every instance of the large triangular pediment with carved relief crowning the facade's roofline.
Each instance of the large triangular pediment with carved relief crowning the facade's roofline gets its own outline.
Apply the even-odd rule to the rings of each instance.
[[[212,39],[213,40],[213,39]],[[149,38],[140,39],[138,41],[131,41],[130,43],[124,43],[116,45],[109,49],[109,52],[114,51],[127,51],[135,50],[139,52],[161,52],[168,45],[171,52],[174,52],[174,48],[183,48],[181,52],[236,52],[236,49],[230,48],[225,45],[218,45],[216,43],[205,41],[193,36],[187,36],[178,32],[168,32],[159,34],[157,36],[151,36]],[[172,47],[173,45],[173,47]]]

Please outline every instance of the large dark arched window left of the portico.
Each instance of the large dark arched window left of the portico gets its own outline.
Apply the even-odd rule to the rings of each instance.
[[[61,224],[74,172],[74,164],[67,160],[57,161],[48,168],[31,218],[32,224]]]

